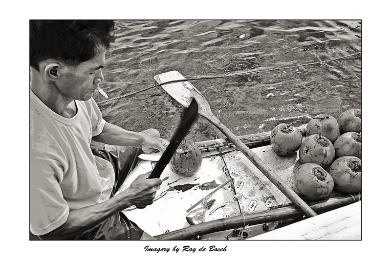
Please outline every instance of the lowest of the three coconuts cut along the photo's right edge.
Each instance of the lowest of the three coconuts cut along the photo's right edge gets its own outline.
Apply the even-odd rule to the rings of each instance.
[[[329,170],[337,191],[353,193],[361,191],[361,160],[355,156],[343,156],[335,160]]]

